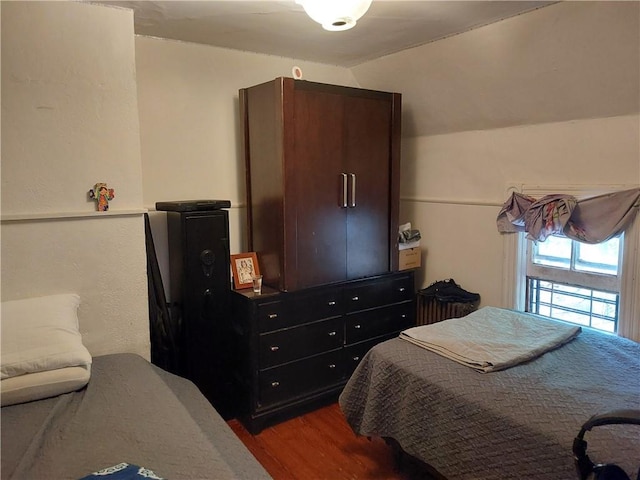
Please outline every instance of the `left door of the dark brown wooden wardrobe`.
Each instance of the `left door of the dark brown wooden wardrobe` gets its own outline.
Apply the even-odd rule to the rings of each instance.
[[[297,269],[287,273],[305,288],[346,278],[345,112],[343,96],[324,91],[296,90],[294,105],[296,193],[285,201],[295,202]]]

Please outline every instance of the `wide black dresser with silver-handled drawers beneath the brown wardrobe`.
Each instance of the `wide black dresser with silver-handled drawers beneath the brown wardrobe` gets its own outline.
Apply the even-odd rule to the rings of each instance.
[[[252,433],[335,401],[375,344],[415,325],[414,272],[232,292],[239,418]]]

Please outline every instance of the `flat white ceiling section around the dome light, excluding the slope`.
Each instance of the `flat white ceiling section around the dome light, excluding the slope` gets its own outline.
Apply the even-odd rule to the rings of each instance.
[[[353,29],[327,32],[294,0],[89,1],[133,9],[140,35],[343,67],[556,3],[374,0]]]

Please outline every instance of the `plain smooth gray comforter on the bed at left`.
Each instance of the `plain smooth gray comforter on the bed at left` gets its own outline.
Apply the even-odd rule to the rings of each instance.
[[[143,358],[93,359],[86,389],[2,408],[2,479],[77,479],[127,462],[169,479],[267,479],[195,385]]]

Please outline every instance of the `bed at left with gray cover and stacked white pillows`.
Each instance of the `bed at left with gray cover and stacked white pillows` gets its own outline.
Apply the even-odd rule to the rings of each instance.
[[[106,480],[123,465],[137,470],[117,478],[271,478],[191,381],[131,353],[91,357],[78,305],[2,304],[2,479]]]

